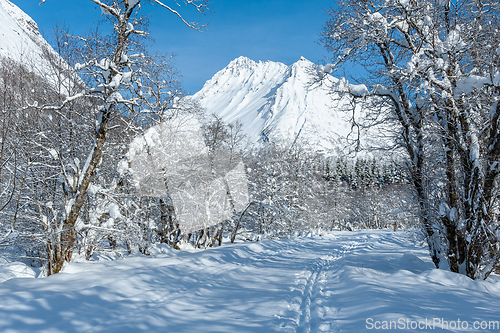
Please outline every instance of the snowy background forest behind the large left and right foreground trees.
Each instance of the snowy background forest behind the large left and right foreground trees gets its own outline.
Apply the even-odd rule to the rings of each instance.
[[[234,242],[292,237],[318,228],[398,228],[415,222],[409,208],[408,176],[396,162],[325,157],[298,147],[245,148],[240,125],[203,115],[182,96],[168,62],[159,67],[147,58],[144,63],[157,69],[156,76],[142,73],[141,84],[149,82],[149,86],[137,104],[146,107],[131,113],[132,117],[124,110],[110,118],[102,161],[71,229],[74,251],[87,259],[96,251],[148,254],[154,243],[203,248],[220,245],[223,238]],[[58,255],[64,242],[64,221],[89,163],[96,133],[95,114],[89,106],[99,107],[99,103],[93,104],[90,98],[68,101],[64,93],[47,85],[46,78],[25,66],[8,60],[1,65],[2,108],[6,110],[2,119],[1,246],[5,255],[45,265],[54,260],[50,256]],[[55,70],[60,68],[56,65]],[[83,89],[79,79],[61,78],[61,90]],[[52,106],[58,102],[64,107]],[[204,119],[201,126],[196,125],[197,118]],[[198,132],[186,132],[193,126],[198,126]],[[170,135],[158,131],[162,136],[155,139],[155,130],[160,128]],[[180,158],[189,160],[189,152],[203,151],[206,160],[198,159],[194,166],[184,162],[187,169],[181,170]],[[155,162],[166,164],[155,167]],[[224,162],[231,165],[223,166]],[[196,183],[211,179],[211,170],[228,174],[238,170],[238,165],[241,172],[235,178],[244,184],[229,191],[233,207],[221,209],[211,223],[188,226],[202,220],[202,215],[184,222],[186,217],[181,218],[172,200],[175,185],[171,180],[179,179],[179,174],[196,178],[194,174],[210,171],[191,180]],[[221,188],[222,196],[226,195],[225,187],[205,189],[205,193],[216,195]],[[245,191],[243,198],[236,197]],[[198,195],[193,194],[204,203]],[[216,204],[227,201],[214,198]]]

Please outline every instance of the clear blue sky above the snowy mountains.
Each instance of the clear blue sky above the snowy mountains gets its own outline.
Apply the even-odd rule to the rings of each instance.
[[[96,25],[100,10],[90,0],[11,0],[30,15],[46,36],[56,23],[82,34]],[[179,1],[182,2],[182,1]],[[146,5],[150,14],[153,51],[176,54],[174,63],[188,93],[200,90],[206,80],[231,60],[246,56],[290,65],[301,56],[313,62],[325,60],[327,52],[318,44],[325,9],[332,0],[212,0],[213,13],[200,15],[182,6],[188,21],[208,23],[203,32],[189,29],[165,9]],[[173,0],[166,4],[175,6]],[[49,39],[49,38],[48,38]],[[50,42],[50,39],[49,39]]]

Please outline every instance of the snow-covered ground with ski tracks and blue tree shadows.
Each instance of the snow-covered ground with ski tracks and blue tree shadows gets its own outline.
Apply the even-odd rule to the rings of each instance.
[[[495,332],[499,308],[498,276],[472,281],[433,269],[425,247],[390,231],[160,247],[150,257],[75,262],[49,278],[0,283],[2,332],[363,332],[384,324]],[[464,322],[467,330],[451,329]]]

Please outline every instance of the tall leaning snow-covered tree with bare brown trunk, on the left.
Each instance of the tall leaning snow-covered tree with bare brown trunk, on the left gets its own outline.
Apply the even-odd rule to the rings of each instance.
[[[196,23],[184,20],[181,14],[165,2],[141,0],[89,0],[96,4],[111,24],[109,36],[94,33],[81,42],[81,61],[75,70],[86,84],[78,93],[68,92],[61,103],[44,106],[42,110],[63,112],[77,100],[86,99],[89,114],[95,117],[92,143],[82,159],[64,156],[66,151],[55,152],[61,163],[64,179],[65,207],[57,216],[53,247],[49,250],[48,274],[57,273],[64,262],[71,260],[76,245],[76,227],[96,170],[102,161],[109,125],[120,117],[130,117],[139,107],[142,84],[136,76],[141,68],[144,47],[143,38],[147,32],[141,29],[144,18],[140,15],[144,4],[158,5],[178,16],[189,27],[198,29]],[[43,2],[43,1],[42,1]],[[203,12],[207,6],[204,0],[186,0],[186,5]],[[80,150],[81,151],[81,150]],[[71,166],[71,167],[70,167]]]

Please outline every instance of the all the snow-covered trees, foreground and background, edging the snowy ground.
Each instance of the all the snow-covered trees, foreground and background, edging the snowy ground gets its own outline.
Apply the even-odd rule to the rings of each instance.
[[[147,52],[142,3],[184,21],[179,12],[157,0],[90,1],[108,33],[56,31],[51,73],[0,62],[2,255],[51,275],[73,253],[419,226],[437,267],[474,279],[494,270],[497,2],[342,0],[329,12],[322,42],[334,64],[318,82],[344,62],[365,66],[364,84],[336,85],[353,103],[335,112],[362,104],[389,124],[402,152],[390,159],[248,146],[240,124],[184,95],[171,56]]]

